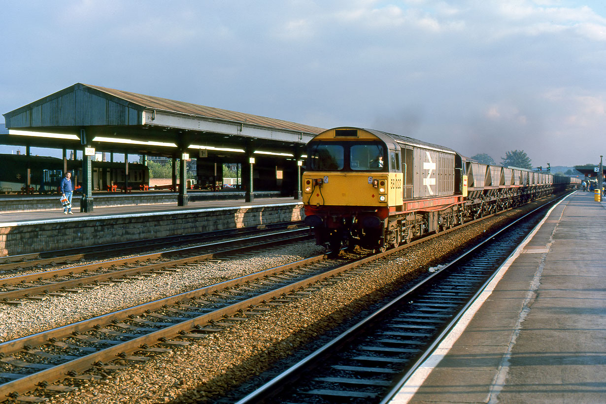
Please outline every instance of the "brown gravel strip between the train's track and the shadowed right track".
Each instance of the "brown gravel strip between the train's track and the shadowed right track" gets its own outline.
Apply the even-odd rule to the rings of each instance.
[[[499,222],[518,216],[510,211],[387,257],[364,275],[331,283],[276,310],[237,323],[207,339],[157,356],[149,362],[86,383],[78,391],[53,397],[51,403],[210,403],[271,368],[297,348],[318,339],[326,329],[347,322],[377,302],[385,285],[424,273],[458,245],[473,243]],[[228,401],[225,401],[228,402]]]

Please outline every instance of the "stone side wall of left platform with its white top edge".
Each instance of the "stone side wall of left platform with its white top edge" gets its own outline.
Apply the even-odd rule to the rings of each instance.
[[[297,222],[303,217],[303,205],[293,203],[22,222],[0,227],[0,256]]]

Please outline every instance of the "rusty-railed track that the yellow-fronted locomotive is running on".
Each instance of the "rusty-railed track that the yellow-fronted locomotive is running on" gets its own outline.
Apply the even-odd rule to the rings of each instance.
[[[321,279],[414,243],[345,264],[326,256],[313,257],[7,341],[0,344],[0,400],[32,402],[53,392],[69,391],[79,380],[105,377],[112,369],[145,362],[154,354],[206,338],[206,334],[306,296],[309,285]],[[353,276],[359,271],[349,273]],[[301,289],[305,287],[308,289]],[[66,377],[68,382],[61,382]]]

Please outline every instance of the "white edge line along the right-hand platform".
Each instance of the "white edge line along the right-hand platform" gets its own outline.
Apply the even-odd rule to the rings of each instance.
[[[519,245],[516,251],[514,251],[511,257],[501,265],[501,268],[499,268],[496,276],[494,276],[491,282],[488,283],[488,286],[484,289],[480,296],[478,296],[478,299],[476,299],[471,304],[470,308],[465,311],[465,313],[461,317],[461,320],[459,320],[459,322],[452,329],[452,331],[450,331],[450,333],[448,333],[444,340],[442,340],[442,342],[440,343],[440,345],[438,345],[438,348],[436,348],[434,353],[431,354],[430,357],[425,359],[425,362],[423,362],[422,365],[419,366],[419,368],[415,371],[415,373],[413,373],[410,378],[408,378],[407,382],[402,385],[401,389],[398,391],[398,394],[396,394],[396,396],[390,400],[390,404],[407,404],[408,402],[410,402],[410,400],[413,398],[413,396],[415,396],[416,392],[419,390],[421,385],[425,382],[425,379],[427,379],[427,377],[430,375],[431,371],[433,371],[433,369],[438,366],[438,363],[440,363],[441,360],[444,359],[448,351],[450,351],[450,349],[453,347],[456,340],[458,340],[461,334],[463,334],[463,331],[465,331],[465,328],[467,328],[467,326],[471,322],[471,319],[473,319],[473,316],[475,316],[479,308],[488,299],[488,296],[493,293],[494,288],[502,279],[507,270],[511,267],[511,264],[516,260],[516,258],[518,258],[518,256],[522,253],[522,250],[524,250],[524,247],[526,247],[528,242],[530,242],[530,240],[534,237],[534,234],[539,231],[539,229],[545,223],[547,218],[551,215],[551,211],[558,207],[559,204],[564,202],[564,200],[567,200],[568,197],[570,197],[571,195],[572,194],[568,195],[556,205],[553,205],[553,207],[551,207],[545,217],[541,220],[541,222],[539,222],[539,224],[534,228],[534,230],[530,234],[528,234],[528,236],[526,236],[524,241],[522,241],[522,243]]]

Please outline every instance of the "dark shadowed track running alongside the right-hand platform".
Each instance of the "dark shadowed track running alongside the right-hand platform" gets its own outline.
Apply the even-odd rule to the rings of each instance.
[[[388,402],[530,233],[544,209],[521,217],[406,288],[238,404]]]

